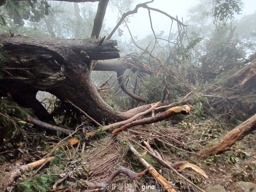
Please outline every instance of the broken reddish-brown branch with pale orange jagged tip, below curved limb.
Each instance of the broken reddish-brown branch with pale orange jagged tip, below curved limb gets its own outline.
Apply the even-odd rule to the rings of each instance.
[[[117,134],[119,134],[120,132],[122,132],[128,128],[131,128],[131,127],[134,127],[137,125],[145,125],[145,124],[151,124],[154,122],[159,122],[159,121],[168,119],[171,116],[175,116],[180,113],[188,114],[192,109],[193,109],[192,105],[183,105],[183,106],[173,107],[163,113],[157,114],[156,116],[148,117],[145,119],[139,119],[137,121],[123,125],[122,127],[115,129],[112,133],[113,133],[113,135],[116,136]]]

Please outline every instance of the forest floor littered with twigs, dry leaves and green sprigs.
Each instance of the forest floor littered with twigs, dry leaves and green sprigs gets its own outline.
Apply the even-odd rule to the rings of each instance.
[[[146,154],[139,145],[144,145],[143,142],[146,141],[162,154],[167,162],[188,161],[204,170],[209,179],[191,169],[184,169],[182,174],[205,191],[213,192],[207,187],[220,185],[226,191],[242,192],[240,181],[256,183],[256,133],[247,135],[233,145],[230,151],[200,158],[196,155],[198,150],[212,145],[232,128],[215,119],[198,122],[192,121],[189,116],[182,117],[176,125],[171,122],[172,119],[153,125],[137,126],[115,138],[111,132],[106,132],[83,141],[80,135],[78,144],[73,146],[70,145],[70,137],[63,140],[62,135],[50,136],[44,131],[38,133],[35,128],[24,126],[23,129],[17,130],[20,136],[13,138],[12,142],[5,146],[6,151],[0,154],[0,177],[15,167],[41,159],[51,151],[55,157],[51,163],[38,172],[34,169],[18,175],[9,191],[53,191],[54,183],[67,174],[68,177],[58,183],[56,191],[87,191],[91,190],[88,187],[90,183],[104,182],[119,166],[137,173],[146,169],[129,150],[129,145],[132,145],[140,154],[144,153],[144,159],[168,180],[177,192],[198,191],[170,169],[162,167],[150,154]],[[58,147],[53,150],[56,143]],[[108,186],[102,187],[108,188],[109,191],[165,191],[150,172],[135,180],[121,174],[112,183],[108,183]]]

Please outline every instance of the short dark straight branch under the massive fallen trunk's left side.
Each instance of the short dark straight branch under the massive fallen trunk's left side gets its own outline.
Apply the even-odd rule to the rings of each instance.
[[[74,132],[72,130],[64,129],[62,127],[58,127],[58,126],[51,125],[51,124],[46,123],[46,122],[42,122],[42,121],[37,120],[33,117],[26,118],[26,121],[29,122],[29,123],[32,123],[33,125],[37,125],[41,128],[47,129],[47,130],[60,131],[60,132],[65,133],[65,134],[72,134]]]

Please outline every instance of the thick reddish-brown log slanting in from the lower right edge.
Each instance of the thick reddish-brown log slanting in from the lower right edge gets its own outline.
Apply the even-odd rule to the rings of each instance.
[[[208,156],[211,154],[221,154],[230,149],[236,142],[242,140],[247,134],[256,130],[256,114],[247,119],[241,125],[228,132],[224,137],[218,140],[215,145],[210,148],[202,149],[198,154]]]

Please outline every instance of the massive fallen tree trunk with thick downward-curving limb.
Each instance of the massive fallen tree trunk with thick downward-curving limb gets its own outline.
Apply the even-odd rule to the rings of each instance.
[[[15,84],[16,87],[12,90],[17,91],[15,94],[20,94],[21,97],[20,92],[25,84],[31,89],[26,91],[27,102],[28,98],[35,97],[36,91],[44,90],[62,101],[70,100],[93,119],[103,119],[106,123],[129,119],[140,112],[114,111],[99,96],[90,80],[87,63],[89,64],[91,60],[118,58],[116,41],[106,40],[99,44],[99,40],[0,36],[0,42],[9,52],[6,67],[1,71],[3,77],[0,79],[0,89],[6,90],[5,94],[10,92],[12,84]],[[38,109],[39,105],[33,105],[31,108],[34,111],[41,111]],[[39,112],[38,117],[45,120],[41,118]]]

